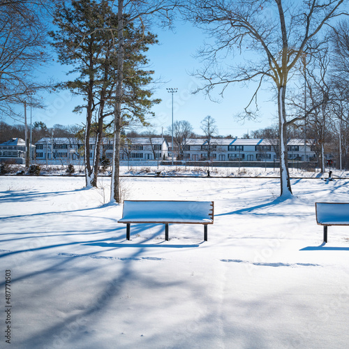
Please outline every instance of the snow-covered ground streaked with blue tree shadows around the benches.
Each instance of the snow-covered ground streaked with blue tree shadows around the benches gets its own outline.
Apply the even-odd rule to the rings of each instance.
[[[349,227],[322,244],[314,205],[348,202],[348,179],[292,179],[285,201],[273,178],[123,179],[128,199],[213,200],[208,242],[127,241],[109,182],[0,177],[0,348],[348,348]]]

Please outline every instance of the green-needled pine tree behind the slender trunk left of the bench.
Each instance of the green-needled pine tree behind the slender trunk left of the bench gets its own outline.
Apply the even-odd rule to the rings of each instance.
[[[117,27],[118,19],[107,1],[97,3],[92,0],[72,1],[72,6],[58,6],[54,23],[59,30],[51,33],[54,47],[62,64],[73,65],[70,73],[78,73],[73,81],[62,84],[84,97],[84,105],[75,110],[86,108],[85,126],[85,174],[87,186],[97,186],[98,165],[101,158],[101,145],[105,118],[114,114],[115,89],[117,86]],[[126,59],[124,64],[125,84],[122,95],[122,126],[131,121],[145,123],[145,116],[151,105],[151,82],[149,71],[142,70],[147,64],[143,52],[148,45],[156,43],[156,36],[133,29],[129,24],[124,29]],[[96,117],[96,147],[94,162],[89,161],[89,138],[93,117]]]

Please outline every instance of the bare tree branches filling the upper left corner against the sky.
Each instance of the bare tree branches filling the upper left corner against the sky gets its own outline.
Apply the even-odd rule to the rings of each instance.
[[[27,100],[41,106],[36,93],[50,87],[36,74],[50,61],[47,20],[53,4],[53,0],[0,2],[0,110],[13,119],[22,118],[16,105]]]

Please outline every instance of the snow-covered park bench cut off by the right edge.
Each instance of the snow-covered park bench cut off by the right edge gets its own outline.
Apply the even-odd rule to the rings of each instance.
[[[329,225],[349,225],[349,203],[315,202],[316,222],[324,226],[324,242],[327,242]]]

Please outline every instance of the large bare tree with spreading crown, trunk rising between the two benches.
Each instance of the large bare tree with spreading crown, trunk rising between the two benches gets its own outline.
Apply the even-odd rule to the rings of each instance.
[[[285,96],[288,82],[297,61],[309,47],[309,40],[318,36],[325,24],[340,15],[347,14],[344,0],[188,0],[187,17],[202,27],[216,40],[200,55],[208,59],[205,69],[198,73],[204,79],[202,88],[208,94],[221,86],[221,94],[229,84],[255,80],[255,90],[248,107],[258,94],[264,80],[272,82],[276,90],[279,115],[279,148],[281,196],[292,195],[288,172],[287,126],[288,114]],[[342,10],[343,9],[343,10]],[[221,59],[234,52],[246,50],[253,57],[242,64],[221,69]],[[251,110],[246,108],[246,115]]]

